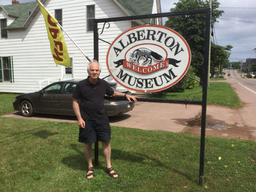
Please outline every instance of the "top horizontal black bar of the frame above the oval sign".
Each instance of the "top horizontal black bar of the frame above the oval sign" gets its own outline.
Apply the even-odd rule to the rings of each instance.
[[[178,15],[190,15],[190,14],[200,14],[206,13],[207,9],[194,9],[186,11],[175,11],[175,12],[166,12],[166,13],[155,13],[147,15],[135,15],[135,16],[126,16],[126,17],[112,17],[112,18],[98,18],[94,19],[94,22],[114,22],[114,21],[124,21],[124,20],[137,20],[145,18],[157,18],[157,17],[169,17],[169,16],[178,16]]]

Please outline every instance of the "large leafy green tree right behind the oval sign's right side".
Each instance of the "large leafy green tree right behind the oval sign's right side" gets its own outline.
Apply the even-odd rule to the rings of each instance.
[[[199,0],[179,0],[174,3],[175,7],[171,8],[171,12],[208,8],[208,3],[204,1],[204,4]],[[217,22],[224,11],[217,10],[219,2],[212,0],[211,2],[211,22],[214,24]],[[196,74],[198,77],[202,77],[202,65],[204,60],[204,28],[206,23],[205,14],[195,15],[183,15],[168,17],[165,22],[165,26],[169,27],[184,37],[191,49],[192,59],[191,65],[196,68]]]

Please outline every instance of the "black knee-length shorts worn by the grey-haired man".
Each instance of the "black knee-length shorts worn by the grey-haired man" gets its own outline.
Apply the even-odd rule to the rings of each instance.
[[[108,117],[99,120],[85,120],[85,128],[79,128],[79,139],[81,143],[92,144],[96,141],[107,142],[111,139],[111,128]]]

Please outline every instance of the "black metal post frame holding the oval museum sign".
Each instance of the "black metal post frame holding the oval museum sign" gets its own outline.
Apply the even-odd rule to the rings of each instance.
[[[196,9],[187,11],[176,11],[167,13],[157,13],[148,15],[137,15],[128,17],[113,17],[113,18],[100,18],[94,19],[93,28],[93,42],[94,42],[94,59],[98,61],[98,23],[116,22],[124,20],[137,20],[146,18],[170,17],[178,15],[194,15],[206,14],[205,25],[205,39],[204,39],[204,65],[203,65],[203,78],[202,78],[202,101],[194,100],[168,100],[168,99],[149,99],[137,98],[141,102],[158,102],[158,103],[182,103],[192,105],[202,105],[202,122],[201,122],[201,140],[200,140],[200,170],[199,170],[199,184],[202,185],[204,181],[204,148],[205,148],[205,129],[206,129],[206,101],[207,101],[207,81],[208,81],[208,59],[209,59],[209,43],[210,43],[210,22],[211,22],[211,9]],[[102,29],[103,31],[103,29]],[[105,42],[105,41],[104,41]],[[125,98],[113,98],[116,100],[125,100]],[[95,166],[98,165],[98,142],[95,143]]]

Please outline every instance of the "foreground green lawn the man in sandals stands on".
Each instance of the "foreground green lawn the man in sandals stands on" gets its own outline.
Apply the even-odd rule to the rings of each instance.
[[[111,164],[120,177],[104,173],[99,145],[95,178],[87,180],[76,123],[0,117],[0,125],[1,192],[256,191],[256,143],[249,140],[206,137],[199,186],[199,136],[112,127]]]

